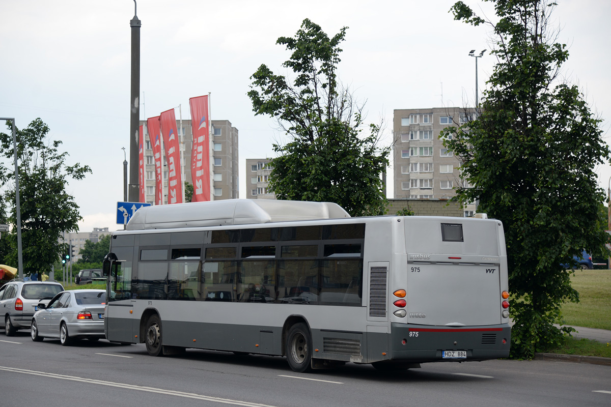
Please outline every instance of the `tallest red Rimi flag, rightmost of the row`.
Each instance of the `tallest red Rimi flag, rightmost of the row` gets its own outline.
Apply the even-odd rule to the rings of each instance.
[[[191,106],[191,178],[193,179],[192,202],[210,201],[210,118],[208,96],[189,99]]]

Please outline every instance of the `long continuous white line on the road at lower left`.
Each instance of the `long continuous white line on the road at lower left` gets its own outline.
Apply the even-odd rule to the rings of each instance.
[[[26,375],[45,376],[46,378],[80,381],[83,383],[91,383],[91,384],[101,384],[102,386],[120,387],[122,389],[128,389],[128,390],[138,390],[138,391],[144,391],[144,392],[150,392],[150,393],[174,395],[177,397],[194,398],[196,400],[206,400],[207,402],[232,404],[232,405],[246,406],[246,407],[276,407],[276,406],[271,406],[267,404],[243,402],[241,400],[232,400],[231,398],[212,397],[212,396],[207,396],[203,394],[194,394],[194,393],[185,393],[185,392],[179,392],[179,391],[174,391],[174,390],[158,389],[156,387],[136,386],[135,384],[115,383],[112,381],[88,379],[88,378],[78,377],[78,376],[60,375],[57,373],[37,372],[36,370],[18,369],[16,367],[0,366],[0,370],[5,370],[7,372],[12,372],[12,373],[24,373]]]

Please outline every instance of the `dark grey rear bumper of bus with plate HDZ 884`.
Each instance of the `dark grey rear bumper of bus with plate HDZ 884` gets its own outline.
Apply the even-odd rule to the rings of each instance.
[[[393,323],[390,359],[420,363],[507,358],[510,342],[509,324],[455,327]]]

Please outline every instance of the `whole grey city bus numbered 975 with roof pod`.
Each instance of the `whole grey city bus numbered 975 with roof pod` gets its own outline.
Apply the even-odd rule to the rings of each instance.
[[[333,203],[224,200],[139,209],[104,259],[112,342],[354,362],[505,358],[502,223],[350,217]]]

